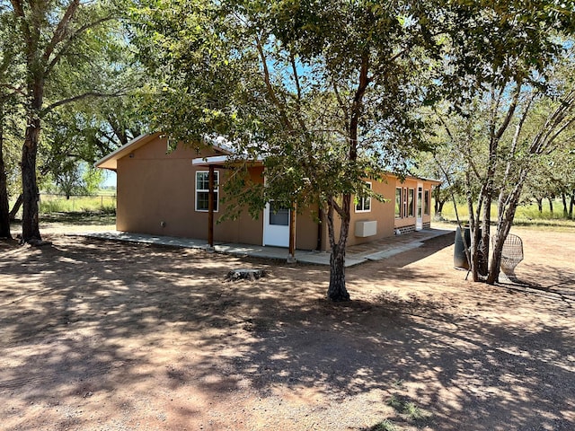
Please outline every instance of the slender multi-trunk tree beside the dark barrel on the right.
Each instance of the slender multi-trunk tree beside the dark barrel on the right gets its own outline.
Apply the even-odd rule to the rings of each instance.
[[[572,34],[573,2],[464,4],[462,10],[460,16],[467,13],[471,25],[454,35],[447,63],[455,80],[445,82],[450,83],[448,88],[459,89],[450,100],[453,110],[467,119],[467,129],[472,130],[478,119],[483,125],[483,135],[469,134],[464,147],[466,195],[473,231],[473,279],[483,275],[492,284],[499,277],[503,243],[529,164],[553,151],[557,137],[572,122],[572,93],[567,90],[557,94],[541,128],[525,136],[527,116],[547,92],[552,66],[565,48],[558,33]],[[474,184],[480,186],[475,203]],[[491,202],[495,199],[498,219],[490,262]]]

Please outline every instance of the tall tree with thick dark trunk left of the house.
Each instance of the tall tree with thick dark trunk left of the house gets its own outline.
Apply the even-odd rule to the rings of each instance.
[[[67,103],[111,94],[87,65],[110,48],[108,25],[119,10],[104,1],[11,0],[11,8],[2,5],[15,19],[15,44],[23,57],[22,241],[34,243],[41,241],[36,167],[42,120]]]

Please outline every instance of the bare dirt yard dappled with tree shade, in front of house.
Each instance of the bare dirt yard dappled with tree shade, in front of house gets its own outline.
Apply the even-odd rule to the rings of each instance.
[[[350,303],[319,266],[0,242],[0,429],[575,429],[575,233],[515,233],[538,288],[465,281],[449,235],[349,268]]]

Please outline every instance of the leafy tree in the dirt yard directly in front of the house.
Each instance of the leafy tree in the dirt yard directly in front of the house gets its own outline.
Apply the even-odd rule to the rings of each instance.
[[[137,10],[136,42],[164,83],[156,126],[188,142],[226,136],[236,154],[263,160],[265,187],[232,175],[240,206],[317,205],[332,250],[327,296],[348,300],[352,196],[382,199],[365,180],[405,172],[422,143],[418,108],[429,85],[421,84],[429,78],[422,51],[438,55],[438,9],[432,2],[146,4]]]

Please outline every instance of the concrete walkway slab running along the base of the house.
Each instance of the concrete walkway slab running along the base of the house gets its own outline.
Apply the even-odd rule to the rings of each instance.
[[[438,236],[453,233],[453,230],[445,229],[424,229],[412,233],[404,233],[393,237],[384,238],[375,242],[349,246],[346,251],[345,266],[353,267],[369,260],[381,260],[390,258],[403,251],[416,249]],[[75,233],[79,234],[79,233]],[[208,242],[190,238],[178,238],[173,236],[149,235],[145,233],[126,233],[118,231],[81,233],[82,236],[98,238],[102,240],[139,242],[146,244],[157,244],[172,247],[189,249],[208,250]],[[250,256],[263,259],[288,259],[288,249],[281,247],[269,247],[251,244],[224,243],[215,244],[215,251],[218,253],[231,254],[235,256]],[[296,250],[296,261],[312,263],[316,265],[329,265],[330,253],[324,251]]]

